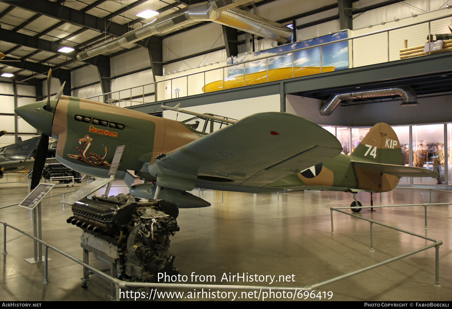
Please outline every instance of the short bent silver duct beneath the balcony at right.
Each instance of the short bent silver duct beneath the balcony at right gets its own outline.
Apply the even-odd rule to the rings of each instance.
[[[339,103],[343,100],[349,100],[353,98],[375,98],[375,97],[386,97],[390,95],[400,95],[402,97],[402,103],[405,104],[415,104],[417,103],[417,96],[414,89],[410,86],[401,87],[391,87],[386,89],[368,90],[368,91],[358,91],[347,94],[334,94],[323,103],[320,107],[320,114],[322,116],[329,116],[334,111]]]

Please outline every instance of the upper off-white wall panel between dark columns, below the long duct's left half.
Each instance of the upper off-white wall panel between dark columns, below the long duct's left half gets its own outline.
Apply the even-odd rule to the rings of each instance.
[[[151,66],[151,60],[146,48],[137,48],[110,58],[111,76],[125,74],[149,66]]]

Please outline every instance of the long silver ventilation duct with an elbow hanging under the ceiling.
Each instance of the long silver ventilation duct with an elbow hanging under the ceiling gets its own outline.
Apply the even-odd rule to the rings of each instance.
[[[130,43],[150,37],[151,35],[166,33],[189,23],[200,21],[221,23],[222,25],[282,43],[292,42],[291,28],[235,8],[237,5],[250,1],[251,0],[210,0],[208,2],[190,5],[185,9],[180,9],[179,11],[167,14],[156,19],[152,23],[127,32],[112,41],[80,52],[77,54],[77,59],[84,60],[101,55],[115,48],[126,46]]]

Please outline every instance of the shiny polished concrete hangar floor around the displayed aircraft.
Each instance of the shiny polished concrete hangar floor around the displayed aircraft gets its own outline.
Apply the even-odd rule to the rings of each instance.
[[[9,177],[9,181],[13,179]],[[2,179],[2,182],[5,181],[5,178]],[[115,181],[114,185],[122,183]],[[127,188],[114,187],[111,193],[126,192],[125,189]],[[55,187],[49,194],[68,191],[72,191],[72,188]],[[26,193],[26,183],[0,183],[0,206],[19,202]],[[198,195],[198,189],[195,189],[193,194]],[[369,223],[336,212],[335,233],[331,234],[330,207],[349,206],[352,199],[350,193],[330,192],[329,199],[328,192],[301,191],[279,194],[277,201],[276,193],[256,195],[224,192],[224,204],[221,204],[221,192],[201,190],[200,195],[211,202],[212,206],[180,210],[180,231],[172,238],[170,253],[176,256],[174,266],[188,278],[193,272],[195,275],[215,275],[215,282],[209,283],[255,285],[255,282],[221,281],[224,273],[241,275],[248,272],[248,275],[276,275],[275,280],[281,275],[291,275],[295,281],[273,284],[259,282],[258,285],[301,287],[370,266],[431,243],[374,225],[375,251],[370,252]],[[433,202],[452,200],[450,194],[443,192],[433,192],[432,197]],[[363,205],[369,205],[369,193],[359,193],[357,198]],[[56,248],[81,259],[81,230],[66,223],[66,218],[72,213],[69,207],[62,209],[62,204],[58,203],[60,199],[61,197],[52,197],[42,203],[42,238]],[[374,205],[424,203],[428,202],[428,199],[427,190],[395,189],[382,193],[381,204],[380,195],[374,194]],[[452,300],[450,209],[450,206],[429,206],[427,230],[424,229],[423,206],[360,212],[365,218],[442,240],[444,244],[439,250],[441,287],[433,286],[435,249],[430,248],[389,265],[323,286],[318,291],[325,291],[325,295],[332,291],[330,300]],[[33,231],[30,212],[25,209],[15,206],[1,209],[0,220],[30,233]],[[3,244],[2,239],[3,232],[0,238]],[[12,229],[7,229],[7,252],[8,254],[0,257],[0,300],[108,300],[110,286],[107,281],[93,275],[88,289],[82,290],[82,267],[52,250],[49,250],[52,261],[48,263],[50,283],[42,284],[43,263],[29,264],[24,261],[25,258],[33,256],[31,239]],[[90,264],[99,269],[108,268],[92,256]],[[188,293],[193,292],[193,289],[160,291]],[[244,296],[242,291],[238,292],[235,300],[245,300],[241,297]],[[201,298],[201,295],[199,297]],[[260,298],[262,299],[262,296]],[[163,299],[168,300],[168,297]],[[194,300],[217,298],[206,299],[204,294],[203,299]]]

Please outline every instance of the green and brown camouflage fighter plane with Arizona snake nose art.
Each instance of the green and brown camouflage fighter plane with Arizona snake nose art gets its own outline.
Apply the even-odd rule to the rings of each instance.
[[[181,208],[210,205],[186,192],[194,187],[252,193],[387,192],[400,177],[437,175],[402,166],[399,140],[385,123],[373,126],[353,153],[344,155],[334,135],[289,113],[257,113],[207,134],[184,122],[87,99],[61,96],[49,101],[50,108],[40,101],[15,112],[58,140],[58,161],[107,178],[116,147],[125,145],[115,178],[135,171],[155,184],[129,186],[133,195],[166,199]]]

